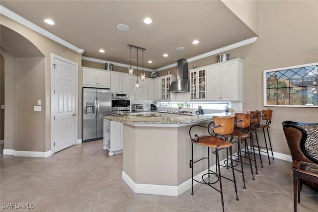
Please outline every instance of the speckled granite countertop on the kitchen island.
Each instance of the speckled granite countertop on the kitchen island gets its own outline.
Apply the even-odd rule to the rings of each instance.
[[[131,114],[120,114],[115,116],[106,116],[105,119],[109,121],[117,121],[121,123],[143,123],[143,124],[193,124],[206,121],[212,121],[213,116],[226,116],[226,113],[213,113],[194,116],[180,116],[175,118],[163,116],[134,116]]]

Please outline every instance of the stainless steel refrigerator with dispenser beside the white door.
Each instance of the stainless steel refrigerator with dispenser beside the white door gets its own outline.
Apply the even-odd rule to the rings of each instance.
[[[103,138],[103,117],[111,116],[111,90],[83,87],[82,141]]]

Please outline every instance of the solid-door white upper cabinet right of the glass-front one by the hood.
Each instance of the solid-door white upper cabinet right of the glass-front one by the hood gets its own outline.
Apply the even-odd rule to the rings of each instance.
[[[238,58],[207,67],[207,100],[242,100],[242,64]]]

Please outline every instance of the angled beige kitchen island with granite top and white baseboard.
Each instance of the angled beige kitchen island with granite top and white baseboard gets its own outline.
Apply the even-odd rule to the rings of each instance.
[[[190,127],[195,124],[207,126],[213,116],[225,115],[216,113],[171,118],[129,114],[105,117],[123,123],[123,180],[135,193],[169,196],[182,194],[191,187]],[[203,128],[195,132],[198,135],[207,134]],[[206,154],[206,148],[195,146],[194,158]],[[220,157],[225,155],[224,151]],[[214,163],[212,161],[211,164]],[[196,165],[194,173],[197,175],[206,169],[207,162],[202,162]]]

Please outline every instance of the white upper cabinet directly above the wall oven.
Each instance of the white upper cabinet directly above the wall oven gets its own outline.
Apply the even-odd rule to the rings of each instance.
[[[112,92],[130,93],[130,78],[127,73],[120,73],[112,71],[110,74]]]

